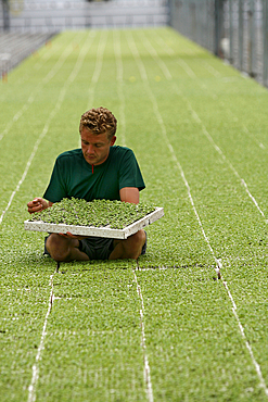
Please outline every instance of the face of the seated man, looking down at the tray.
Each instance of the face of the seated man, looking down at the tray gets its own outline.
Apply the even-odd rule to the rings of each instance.
[[[115,143],[116,137],[107,139],[106,133],[94,135],[87,128],[81,129],[81,150],[85,160],[90,165],[100,165],[106,161],[110,147]]]

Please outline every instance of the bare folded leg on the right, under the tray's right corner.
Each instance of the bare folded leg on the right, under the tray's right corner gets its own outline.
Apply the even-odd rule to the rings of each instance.
[[[126,240],[114,240],[114,250],[110,254],[109,260],[137,260],[141,254],[141,250],[145,241],[146,235],[144,230],[137,231],[135,235],[129,236]]]

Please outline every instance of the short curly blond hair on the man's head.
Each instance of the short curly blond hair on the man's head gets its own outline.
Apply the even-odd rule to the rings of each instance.
[[[81,115],[79,131],[88,129],[94,135],[107,134],[107,139],[112,139],[116,133],[117,120],[106,108],[90,109]]]

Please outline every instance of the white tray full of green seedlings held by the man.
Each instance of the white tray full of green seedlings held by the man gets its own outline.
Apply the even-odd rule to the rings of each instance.
[[[63,199],[26,221],[26,230],[127,238],[164,215],[163,208],[122,201]]]

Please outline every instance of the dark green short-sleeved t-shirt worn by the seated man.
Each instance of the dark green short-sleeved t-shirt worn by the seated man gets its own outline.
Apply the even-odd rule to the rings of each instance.
[[[87,201],[119,200],[119,190],[124,187],[145,188],[136,156],[129,148],[111,147],[106,161],[93,166],[93,172],[81,149],[75,149],[58,156],[43,198],[51,202],[71,197]]]

